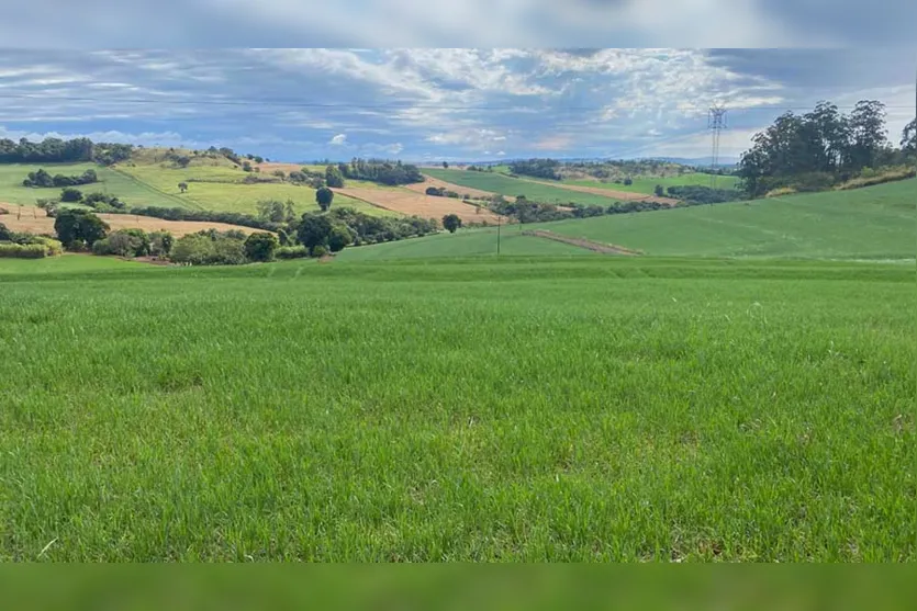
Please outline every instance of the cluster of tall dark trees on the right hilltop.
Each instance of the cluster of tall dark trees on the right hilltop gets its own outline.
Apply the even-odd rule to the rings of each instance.
[[[849,114],[829,102],[819,102],[802,115],[786,112],[754,135],[738,176],[754,197],[781,188],[818,191],[857,178],[865,169],[903,163],[917,147],[914,123],[905,128],[902,149],[896,149],[885,117],[885,105],[875,100],[858,102]]]

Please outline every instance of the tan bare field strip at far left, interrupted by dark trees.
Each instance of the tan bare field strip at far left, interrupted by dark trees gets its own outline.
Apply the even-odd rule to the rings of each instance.
[[[30,234],[54,235],[54,218],[45,216],[45,211],[34,206],[22,206],[22,214],[16,218],[19,206],[12,204],[0,204],[10,211],[10,214],[0,215],[0,223],[11,231],[24,231]],[[99,214],[99,218],[109,224],[112,229],[143,229],[144,231],[169,231],[176,237],[187,234],[203,231],[204,229],[217,229],[228,231],[237,229],[245,234],[253,234],[257,229],[239,227],[226,223],[209,223],[205,220],[164,220],[152,216],[135,216],[133,214]]]

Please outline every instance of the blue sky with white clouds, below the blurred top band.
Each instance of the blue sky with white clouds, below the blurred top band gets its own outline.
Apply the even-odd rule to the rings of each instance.
[[[691,1],[697,7],[717,3]],[[220,2],[226,15],[235,14],[235,0]],[[734,5],[759,3],[737,0]],[[789,4],[763,2],[768,3]],[[164,2],[159,4],[161,9]],[[626,0],[586,4],[602,10],[613,4],[618,11],[630,5]],[[807,0],[795,4],[801,11],[813,5]],[[14,9],[12,22],[29,18],[31,5],[19,3],[24,8]],[[277,41],[287,41],[290,27],[300,23],[290,5],[260,5],[264,14],[251,20],[245,39],[254,44],[258,41],[253,38],[266,37],[262,32],[275,32]],[[158,23],[156,14],[147,15],[150,23]],[[193,9],[188,14],[193,21]],[[628,19],[638,23],[641,15],[637,11]],[[437,23],[433,15],[424,19],[427,26]],[[761,18],[758,30],[749,30],[747,36],[752,43],[763,39],[761,31],[779,25],[778,19]],[[825,44],[843,42],[843,25],[832,30],[828,23],[810,37]],[[3,27],[8,41],[18,42],[14,27],[8,22],[0,34]],[[861,37],[869,34],[861,30]],[[780,31],[795,35],[789,25]],[[328,29],[326,38],[338,42],[334,32]],[[895,27],[888,32],[885,42],[894,42]],[[176,25],[171,35],[180,38],[187,33]],[[487,42],[487,32],[479,36]],[[137,42],[145,42],[142,34]],[[232,43],[220,37],[206,42]],[[890,136],[897,142],[915,113],[915,70],[917,53],[906,42],[729,50],[47,50],[22,43],[20,49],[0,53],[0,137],[87,135],[146,146],[230,146],[289,161],[354,156],[415,161],[693,158],[709,155],[706,111],[719,103],[728,109],[723,139],[723,155],[728,157],[747,148],[751,134],[781,112],[804,112],[821,99],[845,110],[861,99],[885,102]]]

